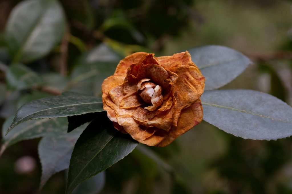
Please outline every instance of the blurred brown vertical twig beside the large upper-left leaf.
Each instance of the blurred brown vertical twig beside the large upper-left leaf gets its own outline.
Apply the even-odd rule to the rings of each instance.
[[[65,35],[61,44],[61,61],[60,61],[60,73],[64,77],[67,75],[67,58],[68,58],[68,45],[70,39],[70,27],[67,25]]]

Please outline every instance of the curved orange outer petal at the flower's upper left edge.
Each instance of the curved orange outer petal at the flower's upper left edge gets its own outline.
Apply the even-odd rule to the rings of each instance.
[[[114,75],[123,75],[126,76],[128,67],[132,64],[138,63],[140,61],[140,59],[145,55],[145,54],[149,54],[146,52],[136,52],[133,53],[127,57],[125,57],[124,59],[122,59],[117,68],[116,71],[114,72]]]

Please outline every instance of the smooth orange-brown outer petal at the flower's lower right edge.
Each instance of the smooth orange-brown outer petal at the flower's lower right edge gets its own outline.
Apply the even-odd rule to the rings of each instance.
[[[171,128],[167,137],[161,141],[158,146],[164,147],[178,136],[184,134],[190,130],[195,125],[199,124],[203,120],[203,107],[201,100],[197,100],[190,107],[187,107],[182,110],[180,117],[178,119],[178,124],[176,127]]]

